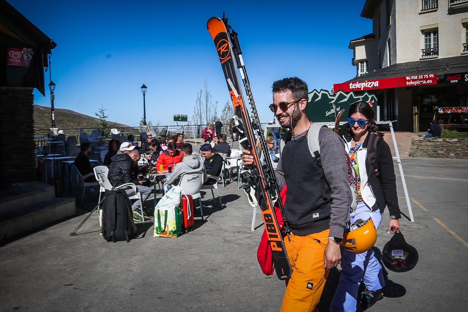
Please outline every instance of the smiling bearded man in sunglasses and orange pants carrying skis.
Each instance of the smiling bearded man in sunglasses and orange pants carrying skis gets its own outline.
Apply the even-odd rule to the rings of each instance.
[[[297,77],[273,83],[275,113],[283,128],[289,128],[278,168],[279,189],[287,185],[285,215],[291,227],[291,242],[285,239],[292,276],[286,281],[281,311],[314,311],[331,268],[341,260],[339,243],[349,221],[352,201],[343,142],[335,132],[319,132],[325,196],[321,192],[321,169],[312,157],[307,132],[312,124],[306,115],[307,84]],[[243,150],[243,165],[253,157]]]

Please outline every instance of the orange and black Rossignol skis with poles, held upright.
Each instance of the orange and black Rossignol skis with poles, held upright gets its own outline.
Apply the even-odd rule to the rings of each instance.
[[[237,133],[239,144],[242,148],[249,150],[250,154],[254,157],[254,163],[250,171],[243,174],[248,181],[244,186],[244,191],[248,196],[250,204],[260,206],[276,274],[280,280],[285,280],[290,278],[292,274],[282,235],[285,233],[289,239],[289,224],[285,217],[283,204],[281,200],[278,200],[278,184],[271,159],[267,153],[265,157],[266,164],[262,165],[260,154],[256,149],[257,135],[262,150],[268,150],[250,89],[249,78],[242,59],[242,51],[237,39],[237,33],[232,30],[228,25],[227,18],[224,17],[223,19],[219,17],[210,18],[206,23],[206,27],[212,36],[216,51],[218,52],[219,62],[221,63],[229,95],[234,106],[233,131]],[[236,62],[234,62],[234,58]],[[241,73],[241,79],[249,99],[252,115],[249,114],[244,102],[236,63]],[[278,200],[281,216],[283,217],[284,225],[282,229],[278,226],[278,220],[275,215],[274,202],[276,200]]]

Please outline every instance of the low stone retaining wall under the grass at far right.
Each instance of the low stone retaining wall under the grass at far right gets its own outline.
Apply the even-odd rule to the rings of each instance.
[[[409,157],[468,159],[468,139],[413,138]]]

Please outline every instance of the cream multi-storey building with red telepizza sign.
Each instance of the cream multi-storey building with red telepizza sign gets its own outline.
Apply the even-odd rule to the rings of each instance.
[[[361,16],[372,33],[350,41],[356,77],[334,91],[375,94],[398,131],[468,129],[468,0],[366,0]]]

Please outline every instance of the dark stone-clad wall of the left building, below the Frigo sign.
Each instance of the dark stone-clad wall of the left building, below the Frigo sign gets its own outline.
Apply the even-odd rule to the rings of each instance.
[[[33,88],[0,87],[0,189],[36,180]]]

